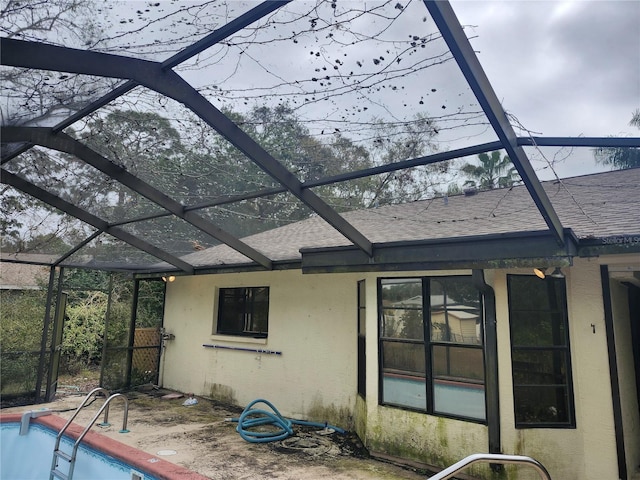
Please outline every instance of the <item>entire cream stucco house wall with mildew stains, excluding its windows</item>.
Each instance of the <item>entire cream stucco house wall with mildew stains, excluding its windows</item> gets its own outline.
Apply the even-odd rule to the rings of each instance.
[[[617,457],[600,263],[574,259],[567,275],[576,428],[516,429],[507,274],[487,271],[495,290],[504,453],[532,456],[552,478],[615,479]],[[284,415],[357,429],[372,451],[446,466],[488,450],[487,426],[378,405],[377,279],[470,274],[402,272],[303,275],[299,271],[205,275],[168,285],[165,328],[176,335],[164,355],[164,386],[243,406],[267,398]],[[357,281],[366,280],[366,401],[357,396]],[[212,335],[217,288],[269,286],[266,340]],[[256,348],[281,355],[205,348]],[[626,355],[626,353],[624,353]],[[523,472],[525,472],[524,470]],[[486,469],[476,473],[490,478]],[[529,478],[508,468],[503,478]]]

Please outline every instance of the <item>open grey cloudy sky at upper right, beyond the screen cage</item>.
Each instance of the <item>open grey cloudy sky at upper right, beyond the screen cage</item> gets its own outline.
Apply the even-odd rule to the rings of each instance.
[[[545,136],[640,136],[640,2],[459,1],[503,107]],[[582,173],[581,165],[564,167]]]

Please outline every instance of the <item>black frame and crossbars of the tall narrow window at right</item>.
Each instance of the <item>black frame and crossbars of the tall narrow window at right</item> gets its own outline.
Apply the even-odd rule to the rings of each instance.
[[[516,277],[529,277],[535,280],[539,280],[540,282],[553,282],[561,285],[562,298],[558,300],[557,308],[552,309],[541,309],[541,310],[532,310],[532,309],[518,309],[515,307],[515,301],[513,300],[514,294],[512,293],[513,287],[513,279]],[[548,283],[547,283],[548,284]],[[509,274],[507,275],[507,297],[508,297],[508,309],[509,309],[509,343],[511,350],[511,384],[512,384],[512,394],[513,394],[513,415],[514,415],[514,424],[516,429],[529,429],[529,428],[563,428],[563,429],[574,429],[576,428],[576,409],[575,409],[575,395],[573,389],[573,368],[571,365],[571,343],[570,343],[570,335],[569,335],[569,309],[567,305],[567,285],[566,279],[564,278],[553,278],[547,276],[544,279],[539,279],[534,275],[520,275],[520,274]],[[524,344],[516,344],[515,337],[517,336],[515,333],[514,320],[516,315],[514,313],[517,312],[530,312],[536,313],[538,315],[545,314],[548,319],[551,321],[553,318],[560,318],[563,327],[563,341],[564,345],[558,344],[550,344],[550,345],[524,345]],[[542,383],[516,383],[516,369],[514,368],[514,358],[517,356],[516,353],[520,352],[534,352],[534,353],[551,353],[551,354],[562,354],[566,374],[564,383],[553,383],[553,384],[542,384]],[[519,420],[518,413],[518,398],[519,393],[522,391],[521,389],[526,388],[564,388],[566,391],[566,408],[567,408],[567,416],[568,419],[566,421],[559,422],[550,422],[550,421],[523,421]]]

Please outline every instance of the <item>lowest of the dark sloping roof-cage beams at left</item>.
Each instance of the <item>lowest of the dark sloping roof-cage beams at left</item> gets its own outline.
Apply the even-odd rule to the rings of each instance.
[[[109,235],[119,240],[122,240],[125,243],[128,243],[132,247],[142,250],[148,253],[149,255],[159,258],[160,260],[164,260],[165,262],[173,265],[174,267],[182,270],[185,273],[189,273],[189,274],[194,273],[193,266],[185,262],[184,260],[181,260],[180,258],[175,257],[174,255],[171,255],[170,253],[154,245],[151,245],[148,242],[145,242],[144,240],[136,237],[135,235],[130,234],[129,232],[121,228],[113,227],[109,225],[108,222],[101,219],[100,217],[97,217],[96,215],[93,215],[87,212],[86,210],[76,205],[73,205],[70,202],[67,202],[66,200],[58,197],[57,195],[47,192],[46,190],[5,170],[4,168],[0,169],[0,174],[2,176],[1,177],[2,183],[6,185],[11,185],[12,187],[20,190],[21,192],[26,193],[27,195],[37,198],[38,200],[48,205],[51,205],[52,207],[55,207],[58,210],[68,215],[71,215],[72,217],[75,217],[78,220],[83,221],[84,223],[87,223],[97,228],[98,230],[104,231],[105,233],[108,233]]]

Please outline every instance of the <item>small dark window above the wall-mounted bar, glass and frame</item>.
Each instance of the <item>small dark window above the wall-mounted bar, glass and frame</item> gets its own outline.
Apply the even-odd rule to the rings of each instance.
[[[265,338],[269,331],[269,287],[221,288],[216,333]]]

